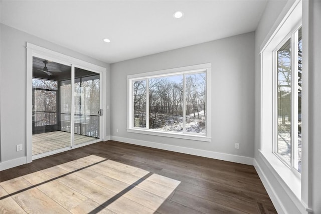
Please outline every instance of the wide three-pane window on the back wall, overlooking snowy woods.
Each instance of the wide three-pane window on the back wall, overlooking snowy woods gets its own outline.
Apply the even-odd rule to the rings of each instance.
[[[209,66],[128,76],[128,131],[209,137]]]

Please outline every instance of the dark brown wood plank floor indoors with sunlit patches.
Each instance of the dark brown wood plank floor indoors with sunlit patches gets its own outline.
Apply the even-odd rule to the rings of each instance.
[[[107,141],[1,171],[0,213],[276,210],[253,166]]]

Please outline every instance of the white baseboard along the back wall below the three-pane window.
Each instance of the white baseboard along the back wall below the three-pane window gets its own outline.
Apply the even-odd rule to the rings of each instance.
[[[174,152],[179,152],[179,153],[192,154],[192,155],[196,155],[196,156],[208,157],[208,158],[213,158],[213,159],[218,159],[218,160],[226,160],[226,161],[235,162],[235,163],[253,165],[253,158],[252,157],[245,157],[245,156],[226,154],[226,153],[214,152],[214,151],[206,151],[206,150],[201,150],[201,149],[188,148],[188,147],[182,147],[182,146],[174,146],[174,145],[169,145],[169,144],[155,143],[155,142],[150,142],[150,141],[136,140],[136,139],[130,139],[130,138],[125,138],[125,137],[117,137],[117,136],[111,136],[111,140],[124,142],[124,143],[130,143],[130,144],[134,144],[134,145],[152,147],[152,148],[156,148],[156,149],[174,151]]]

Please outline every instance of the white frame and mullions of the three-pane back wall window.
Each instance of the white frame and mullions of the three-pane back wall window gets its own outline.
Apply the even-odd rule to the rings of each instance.
[[[146,128],[133,126],[133,100],[132,100],[133,90],[132,88],[133,88],[134,81],[146,80],[146,89],[147,89],[146,95],[147,95],[149,94],[149,86],[147,81],[149,78],[159,78],[159,77],[167,77],[167,76],[173,76],[173,75],[184,76],[187,74],[197,74],[197,73],[206,74],[207,113],[206,113],[206,134],[205,135],[200,133],[184,132],[185,130],[183,130],[183,133],[182,133],[182,132],[149,129],[148,111],[146,112]],[[211,110],[211,95],[210,95],[211,84],[209,83],[210,80],[211,80],[211,63],[128,75],[127,76],[127,132],[210,142],[211,141],[211,111],[210,111]],[[185,81],[185,78],[183,79],[183,81]],[[184,85],[183,91],[185,91],[185,84],[183,85]],[[146,103],[149,103],[148,99],[149,99],[149,96],[146,96]],[[184,96],[184,105],[183,105],[183,117],[185,117],[185,96]],[[183,127],[185,129],[185,123],[183,124]]]

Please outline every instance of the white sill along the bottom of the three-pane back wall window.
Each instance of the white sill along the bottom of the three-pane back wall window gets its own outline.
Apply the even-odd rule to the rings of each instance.
[[[162,137],[172,137],[172,138],[180,138],[180,139],[187,139],[187,140],[197,140],[197,141],[204,141],[204,142],[211,142],[211,138],[204,136],[204,135],[191,135],[191,134],[183,134],[183,133],[169,133],[169,132],[162,132],[162,131],[155,131],[155,130],[140,130],[140,129],[131,129],[127,128],[127,132],[138,133],[138,134],[149,134],[149,135],[156,135]]]

